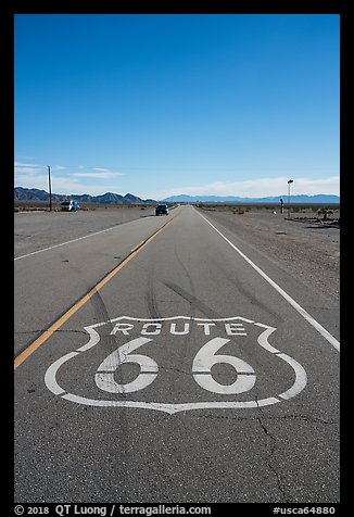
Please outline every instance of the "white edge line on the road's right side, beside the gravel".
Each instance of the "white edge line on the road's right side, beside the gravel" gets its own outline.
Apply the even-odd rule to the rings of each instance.
[[[268,283],[270,283],[271,287],[274,287],[274,289],[276,291],[278,291],[278,293],[287,300],[288,303],[290,303],[290,305],[293,306],[293,308],[295,311],[298,311],[299,314],[301,314],[301,316],[303,318],[305,318],[309,325],[312,325],[338,352],[340,352],[340,342],[331,335],[328,332],[328,330],[326,330],[318,321],[316,321],[316,319],[314,319],[301,305],[299,305],[298,302],[295,302],[295,300],[293,300],[283,289],[281,289],[281,287],[278,286],[278,283],[276,283],[274,280],[271,280],[270,277],[268,277],[268,275],[266,275],[258,266],[256,266],[254,264],[254,262],[251,261],[251,258],[249,258],[244,253],[242,253],[241,250],[239,250],[235,244],[232,244],[231,241],[229,241],[227,239],[227,237],[225,237],[210,220],[206,219],[206,217],[204,217],[204,215],[200,214],[199,212],[197,212],[220,237],[223,237],[223,239],[235,250],[239,253],[239,255],[242,256],[242,258],[245,260],[245,262],[248,262]]]

